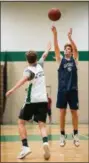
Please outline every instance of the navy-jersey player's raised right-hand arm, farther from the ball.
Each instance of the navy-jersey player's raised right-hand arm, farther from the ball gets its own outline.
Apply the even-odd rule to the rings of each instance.
[[[69,39],[72,49],[73,49],[73,57],[74,57],[74,59],[77,59],[78,58],[78,50],[75,45],[75,42],[72,40],[72,28],[70,28],[70,30],[68,32],[68,39]]]

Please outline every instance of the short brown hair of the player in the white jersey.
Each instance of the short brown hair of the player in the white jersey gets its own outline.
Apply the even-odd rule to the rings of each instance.
[[[37,61],[37,53],[33,50],[26,52],[28,63],[35,63]]]

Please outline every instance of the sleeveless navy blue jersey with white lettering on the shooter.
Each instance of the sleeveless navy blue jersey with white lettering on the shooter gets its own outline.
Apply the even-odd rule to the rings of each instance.
[[[58,69],[58,91],[71,91],[78,89],[77,67],[73,57],[67,60],[62,58]]]

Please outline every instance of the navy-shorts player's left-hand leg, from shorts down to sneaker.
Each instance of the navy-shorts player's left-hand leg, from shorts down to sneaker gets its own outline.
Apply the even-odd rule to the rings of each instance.
[[[67,98],[65,92],[58,92],[57,96],[57,108],[59,108],[60,114],[60,146],[63,147],[66,144],[65,135],[65,118],[66,118]]]

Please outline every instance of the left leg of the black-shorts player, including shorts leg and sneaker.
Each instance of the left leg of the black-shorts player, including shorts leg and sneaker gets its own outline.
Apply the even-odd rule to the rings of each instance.
[[[24,107],[20,111],[19,120],[18,120],[18,129],[22,141],[22,150],[18,156],[18,158],[20,159],[24,158],[26,155],[31,153],[31,149],[28,146],[27,131],[25,127],[25,123],[31,118],[31,115],[32,112],[29,109],[29,104],[24,105]]]

